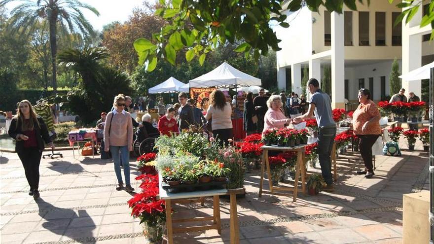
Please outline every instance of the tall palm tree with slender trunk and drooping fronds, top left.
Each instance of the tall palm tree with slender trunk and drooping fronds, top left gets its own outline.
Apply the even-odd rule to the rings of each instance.
[[[57,54],[57,27],[79,33],[85,37],[94,36],[92,25],[86,20],[80,8],[86,8],[100,15],[94,7],[78,0],[0,0],[0,7],[9,2],[20,1],[17,7],[10,12],[8,27],[13,31],[25,32],[33,28],[38,20],[45,19],[49,23],[52,82],[54,91],[57,90],[56,80],[56,54]]]

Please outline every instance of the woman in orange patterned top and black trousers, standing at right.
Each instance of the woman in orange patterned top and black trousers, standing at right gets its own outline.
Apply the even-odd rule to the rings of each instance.
[[[364,162],[364,170],[357,174],[365,174],[366,178],[372,178],[374,169],[372,165],[372,145],[381,135],[380,112],[371,100],[371,93],[368,89],[359,90],[360,105],[353,113],[354,134],[360,139],[360,154]]]

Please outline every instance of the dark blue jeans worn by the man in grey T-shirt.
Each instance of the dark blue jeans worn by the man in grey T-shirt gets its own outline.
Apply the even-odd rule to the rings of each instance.
[[[335,137],[336,126],[320,128],[318,133],[318,158],[321,165],[321,174],[323,174],[323,178],[327,185],[333,183],[330,153],[333,148]]]

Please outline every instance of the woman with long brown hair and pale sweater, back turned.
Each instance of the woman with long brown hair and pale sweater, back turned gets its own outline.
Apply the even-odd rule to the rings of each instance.
[[[223,92],[215,90],[210,95],[210,106],[207,110],[206,119],[211,119],[213,135],[220,139],[220,144],[227,144],[232,139],[232,107],[226,102]]]

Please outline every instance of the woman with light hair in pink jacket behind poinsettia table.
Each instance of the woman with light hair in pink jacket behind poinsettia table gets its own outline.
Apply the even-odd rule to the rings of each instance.
[[[280,129],[289,125],[291,119],[282,112],[282,99],[279,95],[273,95],[267,100],[268,110],[264,116],[264,131],[268,129]]]

